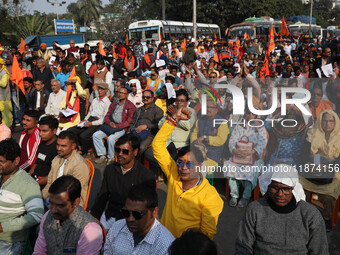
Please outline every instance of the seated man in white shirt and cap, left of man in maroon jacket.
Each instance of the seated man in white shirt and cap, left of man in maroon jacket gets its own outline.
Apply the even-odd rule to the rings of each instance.
[[[92,146],[91,137],[98,130],[100,125],[104,122],[104,117],[110,107],[110,99],[106,96],[109,89],[107,83],[101,82],[97,85],[98,97],[96,97],[90,106],[89,112],[85,119],[81,121],[77,126],[69,129],[78,136],[78,141],[81,145],[82,154],[87,154],[88,150]]]

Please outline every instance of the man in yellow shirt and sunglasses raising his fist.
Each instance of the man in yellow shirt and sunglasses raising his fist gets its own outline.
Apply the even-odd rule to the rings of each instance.
[[[158,131],[153,140],[154,156],[168,178],[168,192],[161,223],[175,238],[190,228],[197,228],[209,238],[216,233],[223,200],[198,169],[204,154],[197,147],[184,147],[175,162],[166,149],[166,141],[181,120],[190,119],[190,110],[181,108]],[[191,151],[190,151],[191,149]]]

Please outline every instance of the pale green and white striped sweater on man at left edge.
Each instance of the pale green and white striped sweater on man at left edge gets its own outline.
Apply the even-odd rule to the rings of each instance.
[[[40,223],[44,214],[43,200],[37,182],[19,169],[0,188],[0,240],[21,242],[26,231]]]

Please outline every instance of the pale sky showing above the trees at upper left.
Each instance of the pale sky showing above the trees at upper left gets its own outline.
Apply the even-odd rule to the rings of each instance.
[[[53,2],[56,0],[52,0]],[[66,7],[70,3],[77,2],[77,0],[58,0],[58,2],[65,1],[66,4],[63,4],[61,7],[58,6],[59,14],[66,13]],[[103,6],[109,3],[109,0],[102,0]],[[52,6],[47,0],[34,0],[33,4],[30,1],[25,1],[25,5],[28,7],[29,10],[33,13],[34,10],[45,12],[45,13],[56,13],[56,7]]]

